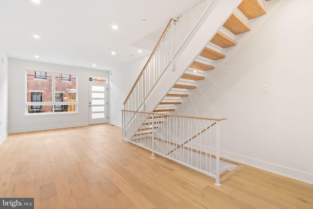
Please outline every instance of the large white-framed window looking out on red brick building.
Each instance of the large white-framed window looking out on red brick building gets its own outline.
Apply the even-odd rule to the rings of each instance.
[[[26,70],[25,114],[76,113],[76,77],[72,73]]]

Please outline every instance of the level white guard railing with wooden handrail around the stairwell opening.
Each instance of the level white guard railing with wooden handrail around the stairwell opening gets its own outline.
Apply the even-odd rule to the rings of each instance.
[[[220,121],[225,119],[123,110],[122,139],[151,151],[153,156],[211,176],[216,179],[215,185],[221,186]]]

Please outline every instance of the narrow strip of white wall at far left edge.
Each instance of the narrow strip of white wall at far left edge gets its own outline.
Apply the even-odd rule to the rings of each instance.
[[[3,63],[2,63],[3,60]],[[0,143],[8,135],[8,89],[9,89],[9,67],[8,57],[0,49]]]

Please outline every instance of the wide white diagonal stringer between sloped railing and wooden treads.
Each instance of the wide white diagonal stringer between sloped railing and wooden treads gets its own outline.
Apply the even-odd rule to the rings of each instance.
[[[216,34],[241,0],[214,0],[195,29],[175,54],[139,111],[153,112],[159,102],[177,83],[184,71],[195,60],[209,40]]]

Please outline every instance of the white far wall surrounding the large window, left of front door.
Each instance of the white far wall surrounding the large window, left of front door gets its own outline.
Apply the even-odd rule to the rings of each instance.
[[[25,116],[25,69],[76,73],[78,114]],[[9,59],[10,133],[88,125],[89,76],[108,78],[109,71]]]

